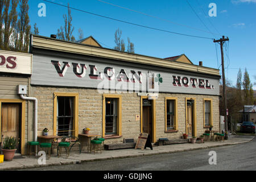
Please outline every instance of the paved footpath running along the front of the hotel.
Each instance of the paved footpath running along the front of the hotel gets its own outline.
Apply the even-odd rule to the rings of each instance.
[[[190,150],[200,150],[207,149],[219,146],[226,146],[232,144],[246,143],[253,140],[255,136],[236,136],[231,137],[228,140],[222,142],[205,142],[205,143],[183,143],[183,144],[169,144],[164,146],[154,146],[153,150],[146,148],[145,150],[134,148],[121,149],[121,150],[104,150],[102,154],[90,154],[83,150],[81,154],[79,151],[71,151],[68,158],[66,158],[65,152],[63,152],[58,158],[56,154],[52,154],[50,159],[46,160],[45,164],[39,164],[39,158],[30,155],[19,155],[15,154],[13,161],[0,163],[0,171],[2,170],[15,170],[23,168],[35,168],[43,166],[60,166],[67,164],[79,164],[84,162],[92,162],[94,160],[109,160],[109,159],[118,159],[118,158],[131,158],[137,156],[147,156],[147,155],[156,155],[156,154],[170,154],[175,152],[183,152]],[[42,162],[42,160],[40,160]]]

